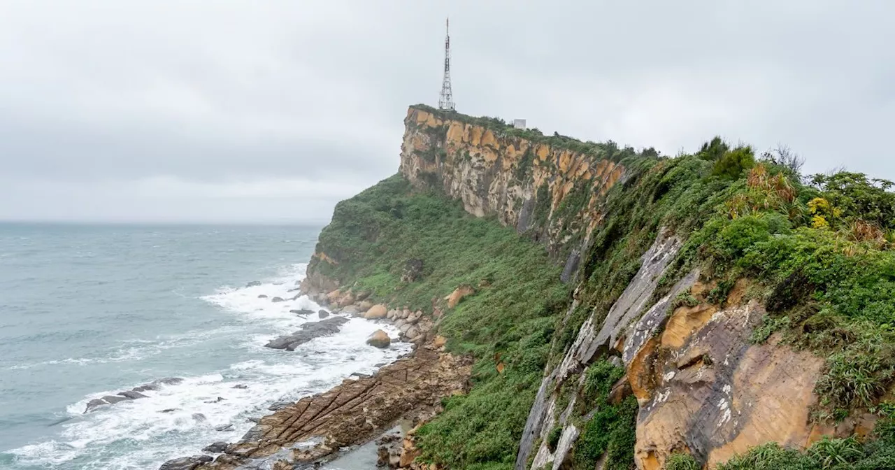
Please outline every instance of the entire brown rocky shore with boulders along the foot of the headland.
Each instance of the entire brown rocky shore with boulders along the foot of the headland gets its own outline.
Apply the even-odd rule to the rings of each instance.
[[[443,397],[466,393],[472,373],[472,360],[447,353],[445,338],[435,335],[439,310],[427,314],[391,308],[372,303],[366,293],[335,288],[325,292],[307,282],[302,291],[337,316],[305,323],[299,331],[266,346],[292,351],[311,338],[334,334],[346,316],[354,315],[393,321],[399,338],[413,342],[413,351],[371,376],[353,376],[327,392],[280,404],[237,442],[212,443],[202,449],[208,454],[168,460],[159,470],[303,468],[377,438],[380,466],[428,468],[413,462],[419,455],[413,432],[439,412]],[[388,347],[390,341],[379,330],[367,343]],[[402,421],[413,429],[405,436],[388,433]]]

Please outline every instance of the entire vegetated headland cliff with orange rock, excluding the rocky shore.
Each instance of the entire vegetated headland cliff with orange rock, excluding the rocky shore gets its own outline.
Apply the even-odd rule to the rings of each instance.
[[[422,312],[474,360],[402,466],[893,467],[895,194],[798,170],[413,106],[303,290]]]

